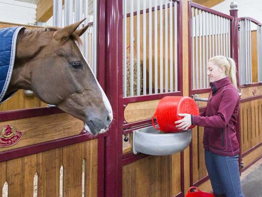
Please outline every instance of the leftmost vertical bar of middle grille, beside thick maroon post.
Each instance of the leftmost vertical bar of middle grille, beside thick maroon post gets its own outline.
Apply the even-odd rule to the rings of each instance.
[[[127,47],[127,41],[126,41],[126,39],[127,39],[127,19],[126,19],[126,15],[127,15],[127,11],[126,11],[126,1],[127,0],[123,0],[123,7],[124,7],[124,13],[123,13],[123,17],[124,17],[124,20],[123,20],[123,25],[124,25],[124,36],[123,36],[123,42],[124,42],[124,46],[123,46],[123,51],[124,51],[124,76],[123,76],[123,96],[124,97],[126,97],[127,96],[127,93],[126,93],[126,89],[127,89],[127,83],[126,83],[126,81],[127,81],[127,76],[126,76],[126,74],[127,74],[127,69],[126,69],[126,67],[127,67],[127,61],[126,61],[126,59],[127,59],[127,49],[126,49],[126,47]]]

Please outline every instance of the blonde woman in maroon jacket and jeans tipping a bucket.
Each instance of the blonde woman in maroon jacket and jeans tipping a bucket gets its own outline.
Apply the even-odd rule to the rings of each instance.
[[[176,127],[182,130],[191,125],[205,127],[205,163],[214,195],[242,197],[235,131],[240,103],[235,62],[231,58],[215,56],[209,59],[207,68],[212,92],[206,110],[199,116],[180,114],[184,118],[175,122],[179,124]]]

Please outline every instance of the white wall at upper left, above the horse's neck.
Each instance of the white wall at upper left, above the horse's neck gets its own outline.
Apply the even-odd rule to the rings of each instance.
[[[35,4],[14,0],[0,0],[0,21],[35,25],[36,7]]]

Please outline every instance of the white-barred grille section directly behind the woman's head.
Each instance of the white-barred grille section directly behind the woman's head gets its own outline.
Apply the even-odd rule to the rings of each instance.
[[[192,89],[203,89],[209,87],[209,58],[230,57],[230,20],[194,7],[191,11]]]

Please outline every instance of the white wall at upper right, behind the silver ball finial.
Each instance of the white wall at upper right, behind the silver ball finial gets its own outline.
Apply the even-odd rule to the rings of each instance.
[[[229,15],[230,4],[232,0],[225,0],[224,2],[214,6],[212,9]],[[237,0],[238,17],[251,17],[262,23],[262,1],[261,0]],[[256,30],[256,26],[251,27]]]

